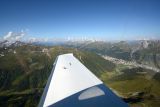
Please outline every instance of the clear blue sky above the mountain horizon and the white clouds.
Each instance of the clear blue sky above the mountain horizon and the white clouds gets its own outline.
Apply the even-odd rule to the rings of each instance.
[[[0,36],[160,38],[160,0],[0,0]]]

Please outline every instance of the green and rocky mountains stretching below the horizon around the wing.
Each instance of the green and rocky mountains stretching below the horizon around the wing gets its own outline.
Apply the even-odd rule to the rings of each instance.
[[[159,41],[80,41],[43,45],[15,41],[0,45],[0,105],[36,107],[55,58],[73,53],[131,107],[159,107],[160,73],[115,64],[108,55],[159,67]],[[132,55],[131,55],[132,54]],[[153,59],[152,59],[153,58]]]

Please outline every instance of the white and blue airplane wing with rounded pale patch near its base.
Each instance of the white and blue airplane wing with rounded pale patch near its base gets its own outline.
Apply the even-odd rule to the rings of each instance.
[[[39,107],[128,107],[73,54],[53,65]]]

